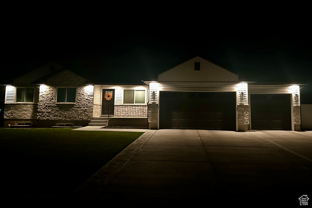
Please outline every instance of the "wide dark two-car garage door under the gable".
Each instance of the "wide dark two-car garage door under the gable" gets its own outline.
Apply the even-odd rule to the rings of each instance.
[[[161,91],[159,128],[236,131],[236,92]]]

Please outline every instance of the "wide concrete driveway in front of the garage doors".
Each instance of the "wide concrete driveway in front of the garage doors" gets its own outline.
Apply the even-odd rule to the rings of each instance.
[[[115,205],[299,205],[312,131],[148,130],[71,199]],[[312,204],[312,200],[311,200]]]

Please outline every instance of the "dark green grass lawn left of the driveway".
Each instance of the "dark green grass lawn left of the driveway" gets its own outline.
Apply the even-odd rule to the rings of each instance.
[[[143,132],[0,129],[2,190],[68,195]]]

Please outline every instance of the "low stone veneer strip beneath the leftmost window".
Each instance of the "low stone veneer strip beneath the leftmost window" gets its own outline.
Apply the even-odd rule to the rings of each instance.
[[[37,103],[4,104],[4,119],[36,119]]]

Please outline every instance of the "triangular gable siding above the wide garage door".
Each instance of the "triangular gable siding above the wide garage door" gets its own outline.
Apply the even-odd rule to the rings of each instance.
[[[200,70],[194,71],[194,63],[200,62]],[[158,75],[158,82],[238,82],[238,75],[195,57]]]

